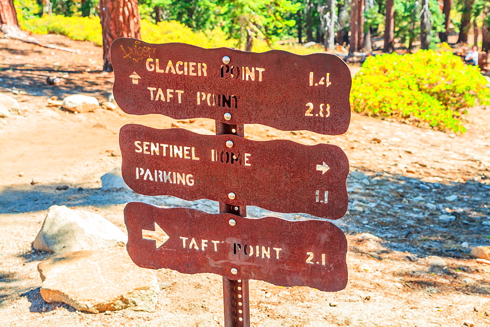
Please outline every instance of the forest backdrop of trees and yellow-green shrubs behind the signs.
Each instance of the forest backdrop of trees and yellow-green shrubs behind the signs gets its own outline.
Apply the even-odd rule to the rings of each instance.
[[[464,133],[466,108],[490,104],[490,79],[461,58],[476,45],[486,68],[489,13],[488,0],[0,0],[0,30],[92,41],[104,48],[106,71],[117,37],[335,53],[363,63],[354,111]]]

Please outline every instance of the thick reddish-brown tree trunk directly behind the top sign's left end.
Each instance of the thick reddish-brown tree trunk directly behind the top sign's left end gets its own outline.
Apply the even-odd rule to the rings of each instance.
[[[141,39],[138,0],[100,0],[104,71],[113,71],[111,44],[120,37]]]

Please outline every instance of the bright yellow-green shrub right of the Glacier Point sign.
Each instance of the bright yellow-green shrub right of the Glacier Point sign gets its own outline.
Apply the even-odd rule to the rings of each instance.
[[[351,104],[368,116],[465,132],[465,108],[490,103],[486,85],[477,67],[450,52],[383,54],[369,57],[354,77]]]

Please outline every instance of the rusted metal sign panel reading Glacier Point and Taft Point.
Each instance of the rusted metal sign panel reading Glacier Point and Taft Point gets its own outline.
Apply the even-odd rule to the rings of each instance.
[[[333,54],[300,56],[121,38],[111,47],[114,97],[127,114],[211,118],[340,135],[351,76]]]

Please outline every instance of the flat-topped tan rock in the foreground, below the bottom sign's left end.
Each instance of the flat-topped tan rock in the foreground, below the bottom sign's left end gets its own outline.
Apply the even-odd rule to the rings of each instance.
[[[71,252],[41,262],[38,270],[44,301],[79,311],[152,312],[158,301],[155,273],[135,265],[124,248]]]

